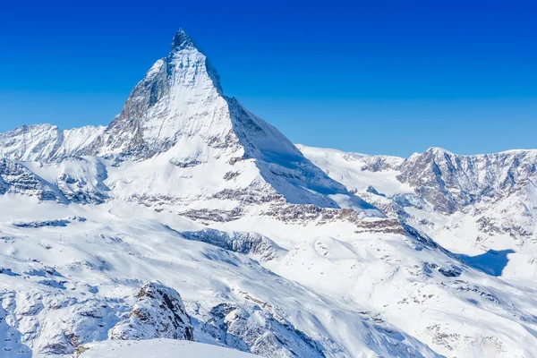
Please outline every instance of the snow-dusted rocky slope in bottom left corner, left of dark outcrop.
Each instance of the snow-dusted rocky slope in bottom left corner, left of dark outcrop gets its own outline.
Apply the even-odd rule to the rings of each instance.
[[[72,297],[64,285],[73,290],[75,284],[54,268],[36,262],[23,266],[27,265],[24,271],[0,268],[0,274],[27,277],[27,285],[34,286],[24,291],[0,289],[0,330],[5,338],[0,341],[0,356],[64,356],[82,343],[107,339],[123,303]]]

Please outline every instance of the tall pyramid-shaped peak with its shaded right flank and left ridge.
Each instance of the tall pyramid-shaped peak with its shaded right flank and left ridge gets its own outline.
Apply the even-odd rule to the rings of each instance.
[[[92,199],[113,195],[186,214],[205,210],[208,217],[211,209],[225,207],[222,219],[240,216],[247,203],[261,202],[352,208],[381,216],[313,166],[276,128],[227,98],[216,70],[183,30],[107,128],[62,132],[48,124],[25,126],[4,133],[0,146],[4,158],[40,162],[34,173],[49,178],[49,186],[64,194],[55,185],[57,178],[70,175],[64,160],[92,156],[117,168],[91,179],[70,175],[68,180]],[[109,178],[107,188],[98,185],[103,175]],[[98,186],[102,190],[96,192]]]

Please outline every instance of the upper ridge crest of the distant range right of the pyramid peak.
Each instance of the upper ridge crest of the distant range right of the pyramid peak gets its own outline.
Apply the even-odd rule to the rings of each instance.
[[[526,195],[537,179],[537,149],[458,155],[431,147],[404,159],[356,155],[335,149],[300,148],[307,158],[333,179],[345,183],[350,190],[364,190],[369,185],[369,182],[368,185],[356,185],[359,177],[375,172],[390,173],[395,179],[391,184],[394,188],[380,187],[379,192],[392,194],[410,189],[428,200],[434,209],[447,214],[481,201],[505,199],[514,193]],[[406,190],[395,188],[401,183],[408,185]],[[375,189],[379,187],[375,185]]]

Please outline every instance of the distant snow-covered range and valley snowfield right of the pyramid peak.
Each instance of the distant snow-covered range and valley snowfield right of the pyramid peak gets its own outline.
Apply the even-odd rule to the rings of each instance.
[[[537,273],[537,150],[461,156],[430,148],[404,159],[298,147],[350,192],[451,251],[512,251],[502,271],[490,272]]]

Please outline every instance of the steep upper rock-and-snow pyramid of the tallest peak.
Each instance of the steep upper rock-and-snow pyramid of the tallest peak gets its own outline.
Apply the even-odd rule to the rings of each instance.
[[[108,125],[96,154],[151,158],[192,135],[213,147],[237,147],[226,125],[228,109],[217,72],[187,38],[183,30],[177,32],[172,51],[132,90],[122,113]]]

